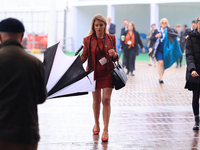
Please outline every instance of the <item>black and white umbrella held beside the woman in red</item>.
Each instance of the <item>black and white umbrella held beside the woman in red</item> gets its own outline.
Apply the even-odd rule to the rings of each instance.
[[[58,45],[44,52],[47,98],[83,95],[94,91],[94,71],[85,71],[80,56],[67,56]]]

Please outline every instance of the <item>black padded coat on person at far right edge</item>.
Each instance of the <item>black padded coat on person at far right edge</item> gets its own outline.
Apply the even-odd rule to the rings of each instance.
[[[200,33],[197,30],[188,33],[189,37],[186,42],[186,61],[187,61],[187,71],[186,71],[186,88],[189,90],[199,90],[200,85],[193,82],[193,77],[191,77],[191,72],[196,70],[200,75]]]

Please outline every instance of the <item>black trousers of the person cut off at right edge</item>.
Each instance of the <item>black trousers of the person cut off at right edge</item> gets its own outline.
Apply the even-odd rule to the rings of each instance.
[[[194,116],[199,115],[199,92],[200,91],[193,91],[192,108]]]

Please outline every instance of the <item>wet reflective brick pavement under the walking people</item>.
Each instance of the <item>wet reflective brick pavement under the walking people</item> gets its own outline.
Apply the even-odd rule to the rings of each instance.
[[[113,90],[109,142],[93,136],[92,95],[47,100],[38,106],[38,150],[198,150],[192,93],[184,89],[185,66],[167,69],[158,83],[157,67],[136,62],[127,86]]]

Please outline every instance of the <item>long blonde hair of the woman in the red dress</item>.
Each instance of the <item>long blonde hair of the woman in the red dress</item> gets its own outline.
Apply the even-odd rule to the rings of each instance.
[[[90,31],[89,31],[89,33],[88,33],[88,36],[95,34],[94,22],[95,22],[96,20],[102,21],[102,22],[105,24],[105,31],[104,31],[104,33],[109,34],[108,28],[107,28],[106,19],[104,18],[103,15],[97,14],[97,15],[95,15],[95,16],[93,17],[93,19],[92,19],[91,28],[90,28]]]

